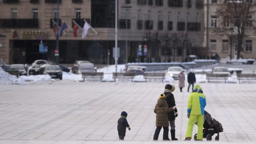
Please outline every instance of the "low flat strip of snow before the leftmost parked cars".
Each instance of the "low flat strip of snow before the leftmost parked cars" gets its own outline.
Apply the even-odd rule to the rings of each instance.
[[[41,82],[41,81],[54,81],[50,75],[30,75],[30,76],[20,76],[20,79],[24,81],[32,81],[32,82]]]

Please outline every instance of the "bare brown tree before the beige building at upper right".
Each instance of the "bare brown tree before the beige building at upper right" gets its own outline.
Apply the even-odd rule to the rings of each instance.
[[[252,16],[255,13],[256,3],[253,0],[219,0],[220,5],[217,8],[217,16],[221,23],[214,30],[218,34],[237,34],[237,59],[240,58],[242,43],[248,33],[246,27],[255,27],[252,22]],[[231,24],[230,24],[231,23]],[[232,41],[230,37],[230,45]],[[230,48],[232,50],[232,48]],[[232,52],[232,51],[231,51]]]

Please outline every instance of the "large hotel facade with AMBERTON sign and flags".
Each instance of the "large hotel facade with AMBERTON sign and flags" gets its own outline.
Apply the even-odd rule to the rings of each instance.
[[[200,54],[203,8],[203,0],[119,0],[118,64],[181,62]],[[0,58],[6,64],[55,61],[57,0],[0,0],[0,12]],[[89,29],[81,38],[85,21],[98,34]],[[74,22],[80,26],[76,38]],[[64,23],[68,28],[59,37],[60,63],[106,64],[110,56],[114,64],[115,0],[59,0],[58,32]],[[41,41],[45,52],[39,52]]]

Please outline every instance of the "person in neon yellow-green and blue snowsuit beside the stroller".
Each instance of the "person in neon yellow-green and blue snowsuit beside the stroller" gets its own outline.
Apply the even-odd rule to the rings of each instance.
[[[206,98],[203,94],[202,88],[196,84],[194,90],[188,98],[188,128],[185,140],[191,140],[193,126],[197,121],[197,140],[203,139],[203,125],[204,125],[204,108],[206,106]]]

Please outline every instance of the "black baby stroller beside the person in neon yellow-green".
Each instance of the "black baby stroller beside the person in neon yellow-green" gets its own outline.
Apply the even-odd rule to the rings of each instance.
[[[197,122],[196,122],[197,124]],[[220,139],[220,132],[223,132],[222,125],[212,118],[212,116],[204,111],[204,129],[203,129],[203,138],[206,138],[206,140],[212,140],[212,136],[214,134],[217,134],[215,137],[215,140],[218,141]],[[194,140],[197,140],[197,134],[194,135]]]

